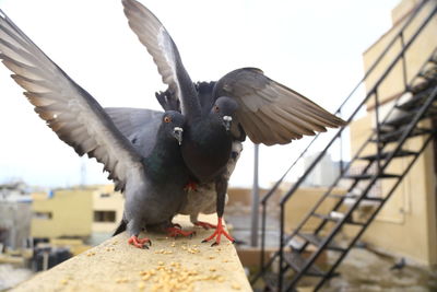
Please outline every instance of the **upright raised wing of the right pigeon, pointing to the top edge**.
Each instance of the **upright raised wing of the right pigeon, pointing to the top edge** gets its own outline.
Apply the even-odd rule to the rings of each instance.
[[[200,115],[200,105],[194,85],[185,69],[179,51],[160,20],[135,0],[122,0],[129,26],[152,55],[163,82],[170,90],[169,97],[180,101],[181,112],[187,118]]]

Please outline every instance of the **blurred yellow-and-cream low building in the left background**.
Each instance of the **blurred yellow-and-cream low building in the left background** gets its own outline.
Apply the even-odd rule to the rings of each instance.
[[[87,238],[114,232],[121,220],[123,197],[113,185],[33,194],[32,236]]]

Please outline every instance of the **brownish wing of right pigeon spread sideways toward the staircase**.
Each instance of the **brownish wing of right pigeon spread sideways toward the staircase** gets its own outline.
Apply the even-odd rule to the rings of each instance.
[[[238,102],[238,121],[255,143],[286,144],[303,135],[345,124],[256,68],[237,69],[224,75],[214,87],[213,98],[220,96]]]

